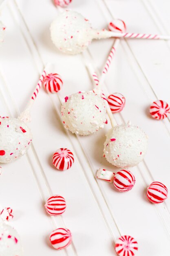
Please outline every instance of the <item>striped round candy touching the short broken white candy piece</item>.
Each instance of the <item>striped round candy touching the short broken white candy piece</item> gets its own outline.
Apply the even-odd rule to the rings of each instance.
[[[115,174],[113,184],[121,192],[127,192],[135,185],[135,176],[128,170],[120,170]]]

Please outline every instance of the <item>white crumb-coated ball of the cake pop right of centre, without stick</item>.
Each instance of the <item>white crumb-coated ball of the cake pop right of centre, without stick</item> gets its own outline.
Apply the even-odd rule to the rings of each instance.
[[[106,134],[104,156],[117,167],[133,167],[146,154],[148,138],[136,125],[122,124],[111,128]]]

